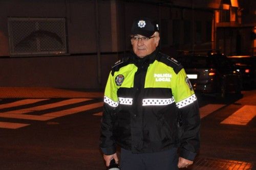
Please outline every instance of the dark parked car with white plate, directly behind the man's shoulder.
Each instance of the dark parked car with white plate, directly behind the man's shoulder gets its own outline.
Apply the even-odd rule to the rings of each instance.
[[[177,57],[195,91],[218,93],[241,93],[241,75],[227,57],[220,53],[183,53]]]

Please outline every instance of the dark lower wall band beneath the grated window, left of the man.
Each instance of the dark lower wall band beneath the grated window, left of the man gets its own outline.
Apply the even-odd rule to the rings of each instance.
[[[96,55],[2,58],[0,86],[99,89],[105,85],[115,61],[115,55],[102,56],[102,82],[99,84]]]

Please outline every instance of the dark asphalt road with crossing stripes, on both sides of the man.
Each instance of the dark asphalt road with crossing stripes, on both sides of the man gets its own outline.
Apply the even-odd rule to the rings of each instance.
[[[105,169],[98,149],[102,99],[24,100],[0,100],[0,169]],[[197,159],[256,165],[256,90],[225,100],[198,94],[198,100]]]

